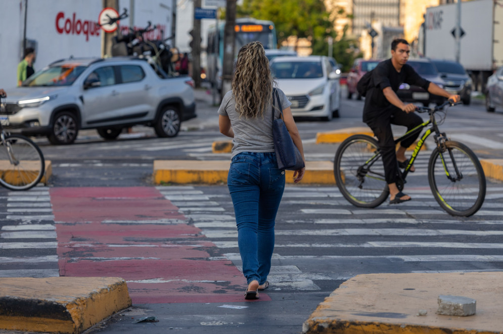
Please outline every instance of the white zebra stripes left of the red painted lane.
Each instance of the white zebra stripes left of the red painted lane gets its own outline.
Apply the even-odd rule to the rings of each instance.
[[[59,276],[48,187],[4,191],[0,198],[0,277]]]

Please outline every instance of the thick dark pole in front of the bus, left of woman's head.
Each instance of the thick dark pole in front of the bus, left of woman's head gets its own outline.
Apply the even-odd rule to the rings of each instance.
[[[232,89],[234,71],[234,44],[236,40],[236,0],[227,0],[225,10],[225,27],[223,30],[223,66],[221,99]]]

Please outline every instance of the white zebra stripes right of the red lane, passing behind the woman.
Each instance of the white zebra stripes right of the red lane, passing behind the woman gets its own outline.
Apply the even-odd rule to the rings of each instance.
[[[209,194],[184,187],[165,196],[241,270],[232,201],[226,187],[221,190]],[[270,289],[316,291],[326,282],[376,272],[372,265],[358,270],[347,265],[360,260],[377,263],[383,272],[503,270],[503,187],[490,185],[482,209],[472,217],[448,215],[429,189],[407,190],[415,201],[360,209],[337,187],[287,186],[276,221]]]

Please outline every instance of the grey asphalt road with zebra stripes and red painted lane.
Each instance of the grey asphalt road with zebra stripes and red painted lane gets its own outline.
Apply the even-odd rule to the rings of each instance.
[[[316,132],[363,126],[361,108],[361,101],[343,100],[339,119],[298,120],[306,158],[333,160],[337,145],[316,145]],[[503,270],[503,184],[488,180],[485,203],[476,215],[449,216],[433,199],[426,176],[429,155],[420,153],[417,172],[407,178],[406,190],[414,200],[400,205],[359,209],[336,187],[287,186],[276,224],[271,286],[259,301],[243,302],[246,282],[239,273],[237,232],[226,186],[155,187],[151,181],[155,159],[230,158],[211,153],[211,142],[225,138],[218,133],[211,96],[200,92],[198,115],[184,124],[187,131],[172,139],[156,138],[144,127],[115,141],[104,141],[94,131],[81,132],[70,146],[37,139],[53,162],[53,177],[48,187],[30,192],[0,190],[0,276],[77,275],[83,270],[88,275],[124,276],[133,308],[92,332],[298,333],[315,307],[357,274]],[[473,104],[450,108],[441,129],[480,158],[491,158],[502,156],[502,126],[501,113],[489,114]],[[174,208],[164,213],[163,205]],[[173,231],[170,224],[180,215],[189,224]],[[115,240],[103,233],[106,224],[96,223],[103,219],[112,219],[108,224],[118,224],[127,236]],[[156,228],[127,225],[145,219]],[[169,237],[159,235],[163,229]],[[124,243],[121,255],[118,247],[109,254],[102,251],[115,247],[112,243]],[[141,247],[125,247],[138,246],[135,243],[169,250],[153,255],[139,251]],[[182,247],[181,253],[173,245]],[[200,261],[208,278],[205,272],[185,277],[190,270],[169,276],[163,265],[169,266],[175,256]],[[155,262],[161,260],[165,262]],[[144,263],[153,264],[147,270]],[[220,280],[211,278],[217,271],[224,273]],[[144,316],[156,316],[159,322],[131,323]]]

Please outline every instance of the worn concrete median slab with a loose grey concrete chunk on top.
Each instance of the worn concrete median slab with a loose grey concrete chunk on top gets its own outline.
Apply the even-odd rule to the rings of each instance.
[[[357,275],[318,305],[302,332],[501,334],[502,280],[503,272]],[[436,314],[439,295],[475,299],[476,314]]]

